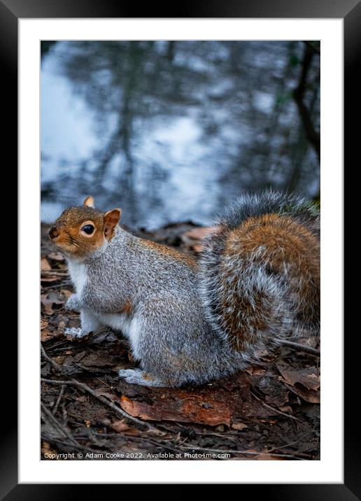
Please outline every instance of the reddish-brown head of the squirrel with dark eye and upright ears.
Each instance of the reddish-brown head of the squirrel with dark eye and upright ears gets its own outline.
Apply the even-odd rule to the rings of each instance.
[[[57,218],[49,230],[50,240],[64,253],[84,257],[111,241],[121,213],[121,209],[98,211],[93,197],[87,197],[82,206],[69,207]]]

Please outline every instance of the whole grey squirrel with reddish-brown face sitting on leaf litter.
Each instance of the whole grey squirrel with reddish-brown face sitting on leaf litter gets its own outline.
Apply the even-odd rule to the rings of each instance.
[[[121,331],[140,368],[120,378],[143,386],[202,384],[257,362],[277,339],[320,331],[320,213],[299,195],[239,197],[216,220],[200,260],[135,237],[122,210],[66,209],[49,236],[66,256],[80,312],[74,338]]]

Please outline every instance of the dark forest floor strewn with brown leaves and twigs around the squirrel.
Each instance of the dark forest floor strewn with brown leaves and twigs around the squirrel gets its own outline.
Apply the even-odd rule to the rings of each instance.
[[[199,255],[206,229],[168,225],[140,237]],[[64,304],[73,288],[66,262],[41,225],[41,456],[69,460],[318,460],[320,359],[294,348],[264,353],[257,365],[203,386],[135,386],[121,334],[80,340]]]

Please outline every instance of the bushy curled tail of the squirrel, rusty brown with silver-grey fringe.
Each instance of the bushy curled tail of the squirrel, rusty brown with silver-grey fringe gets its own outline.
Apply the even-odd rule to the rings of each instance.
[[[320,216],[304,197],[246,195],[204,244],[208,321],[244,358],[275,339],[318,334]]]

